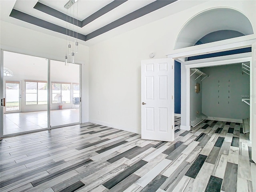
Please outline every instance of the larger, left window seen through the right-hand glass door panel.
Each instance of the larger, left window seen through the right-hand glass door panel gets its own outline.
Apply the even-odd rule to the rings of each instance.
[[[52,83],[52,103],[70,103],[70,83]]]

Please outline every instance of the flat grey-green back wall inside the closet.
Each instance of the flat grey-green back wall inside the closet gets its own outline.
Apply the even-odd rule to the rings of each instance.
[[[242,95],[250,95],[250,76],[241,74],[241,64],[200,68],[210,75],[202,81],[202,113],[208,117],[244,119],[250,106]]]

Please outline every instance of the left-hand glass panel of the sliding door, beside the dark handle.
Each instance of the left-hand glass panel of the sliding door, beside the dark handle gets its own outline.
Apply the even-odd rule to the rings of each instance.
[[[3,51],[3,135],[48,128],[48,59]]]

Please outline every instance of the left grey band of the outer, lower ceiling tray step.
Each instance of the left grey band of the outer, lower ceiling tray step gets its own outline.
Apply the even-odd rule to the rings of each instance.
[[[76,37],[76,32],[66,29],[64,27],[58,26],[56,24],[52,24],[50,22],[47,22],[45,20],[36,18],[34,16],[28,15],[26,13],[20,12],[18,10],[12,9],[12,12],[10,14],[10,17],[22,20],[24,22],[28,22],[30,24],[34,24],[36,26],[48,29],[48,30],[52,30],[58,33],[62,33],[62,34],[70,34],[70,36],[74,36]],[[74,35],[73,35],[74,33]],[[86,41],[86,36],[80,33],[77,33],[77,38],[83,41]]]

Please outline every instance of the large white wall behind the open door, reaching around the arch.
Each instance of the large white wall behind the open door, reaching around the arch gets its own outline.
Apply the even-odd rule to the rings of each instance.
[[[256,30],[255,1],[208,1],[91,46],[89,121],[140,133],[140,61],[148,59],[150,52],[155,53],[154,58],[166,58],[179,30],[190,18],[222,6],[241,10]],[[181,74],[186,74],[185,68],[181,68]],[[184,82],[186,77],[182,76],[181,112],[186,114]],[[181,123],[186,126],[186,121]]]

